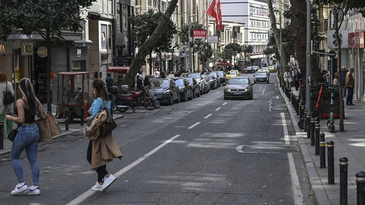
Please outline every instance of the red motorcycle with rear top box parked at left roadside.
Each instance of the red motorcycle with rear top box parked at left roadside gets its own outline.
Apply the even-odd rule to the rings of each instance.
[[[129,86],[122,85],[121,89],[128,92]],[[109,92],[115,96],[114,104],[119,112],[126,112],[129,108],[132,108],[132,111],[135,112],[135,109],[139,108],[140,102],[147,110],[155,109],[155,101],[153,98],[148,97],[148,91],[145,89],[128,94],[118,94],[118,87],[112,86],[109,88]]]

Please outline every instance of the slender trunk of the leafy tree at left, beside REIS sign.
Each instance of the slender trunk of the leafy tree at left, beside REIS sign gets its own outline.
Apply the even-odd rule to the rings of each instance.
[[[46,45],[47,45],[47,112],[52,113],[52,107],[51,107],[51,67],[52,67],[52,41],[50,38],[50,32],[46,32],[47,39],[46,39]],[[53,90],[53,92],[58,92],[57,88],[54,88],[56,90]]]

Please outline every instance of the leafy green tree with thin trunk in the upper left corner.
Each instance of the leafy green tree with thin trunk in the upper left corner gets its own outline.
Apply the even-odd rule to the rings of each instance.
[[[0,39],[14,33],[31,35],[38,32],[47,45],[47,109],[51,111],[50,70],[54,42],[63,41],[63,30],[82,28],[80,13],[96,0],[19,0],[0,3]]]

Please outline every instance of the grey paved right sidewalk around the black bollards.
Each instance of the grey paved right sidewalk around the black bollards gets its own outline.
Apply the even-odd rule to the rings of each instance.
[[[292,88],[294,90],[294,88]],[[334,144],[335,160],[335,184],[328,185],[327,168],[320,167],[319,156],[315,155],[315,147],[310,146],[311,139],[307,138],[307,132],[300,130],[297,121],[299,116],[296,115],[291,102],[282,92],[287,105],[293,127],[296,132],[296,138],[300,147],[301,154],[308,173],[308,178],[312,188],[313,195],[317,205],[338,205],[339,204],[339,159],[347,157],[348,165],[348,186],[347,200],[348,204],[356,204],[356,173],[365,171],[365,104],[354,101],[355,105],[345,105],[345,132],[339,131],[339,120],[335,119],[336,132],[330,133],[327,128],[327,119],[320,122],[320,132],[324,132],[326,143],[332,140]],[[293,91],[297,95],[298,92]],[[327,148],[326,148],[327,149]],[[327,151],[326,151],[327,152]],[[326,154],[327,155],[327,154]],[[327,156],[326,156],[327,160]],[[327,161],[326,161],[327,167]]]

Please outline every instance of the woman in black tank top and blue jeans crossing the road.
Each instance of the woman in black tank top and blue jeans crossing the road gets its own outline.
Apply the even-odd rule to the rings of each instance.
[[[19,90],[22,98],[16,101],[15,114],[18,117],[6,115],[7,120],[18,123],[18,133],[15,136],[13,145],[11,146],[11,163],[19,183],[11,192],[11,195],[24,192],[26,195],[38,195],[41,193],[39,188],[39,166],[37,162],[37,151],[39,142],[39,129],[35,124],[35,115],[41,119],[47,119],[47,115],[43,110],[41,102],[34,94],[33,86],[29,78],[23,78],[19,82]],[[32,170],[32,186],[27,185],[23,177],[22,165],[19,162],[19,156],[23,150],[27,152],[27,158]]]

